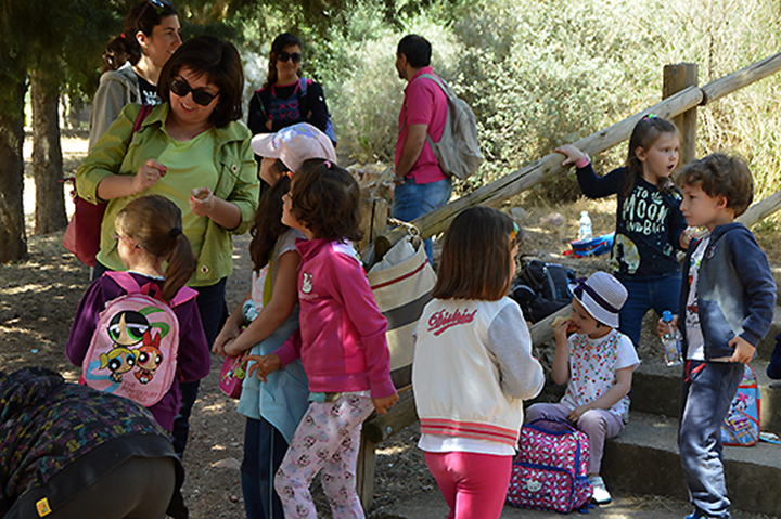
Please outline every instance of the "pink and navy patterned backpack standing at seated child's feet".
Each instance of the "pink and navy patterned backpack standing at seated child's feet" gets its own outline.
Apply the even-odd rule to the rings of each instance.
[[[588,463],[586,433],[545,418],[526,424],[510,473],[508,502],[560,514],[588,505],[593,493]]]

